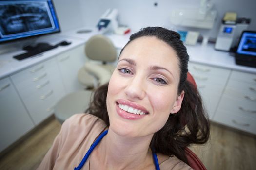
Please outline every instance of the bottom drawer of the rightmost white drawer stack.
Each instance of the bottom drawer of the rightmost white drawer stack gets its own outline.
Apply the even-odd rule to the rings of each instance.
[[[248,119],[241,116],[232,115],[229,112],[217,110],[213,120],[239,130],[256,134],[255,119]]]

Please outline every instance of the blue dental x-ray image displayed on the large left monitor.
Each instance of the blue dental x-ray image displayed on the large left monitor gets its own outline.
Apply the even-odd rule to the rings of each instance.
[[[54,29],[47,1],[0,4],[0,36],[2,38]]]

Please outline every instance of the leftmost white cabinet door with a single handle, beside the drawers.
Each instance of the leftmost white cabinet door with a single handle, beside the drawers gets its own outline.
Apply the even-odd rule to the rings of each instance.
[[[0,80],[0,151],[34,127],[9,78]]]

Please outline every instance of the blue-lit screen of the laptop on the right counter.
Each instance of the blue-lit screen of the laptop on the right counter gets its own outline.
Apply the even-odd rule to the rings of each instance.
[[[236,52],[256,56],[256,32],[243,32]]]

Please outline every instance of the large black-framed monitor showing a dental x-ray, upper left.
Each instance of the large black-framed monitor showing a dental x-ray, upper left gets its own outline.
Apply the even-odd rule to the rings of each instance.
[[[0,0],[0,43],[60,32],[52,0]]]

